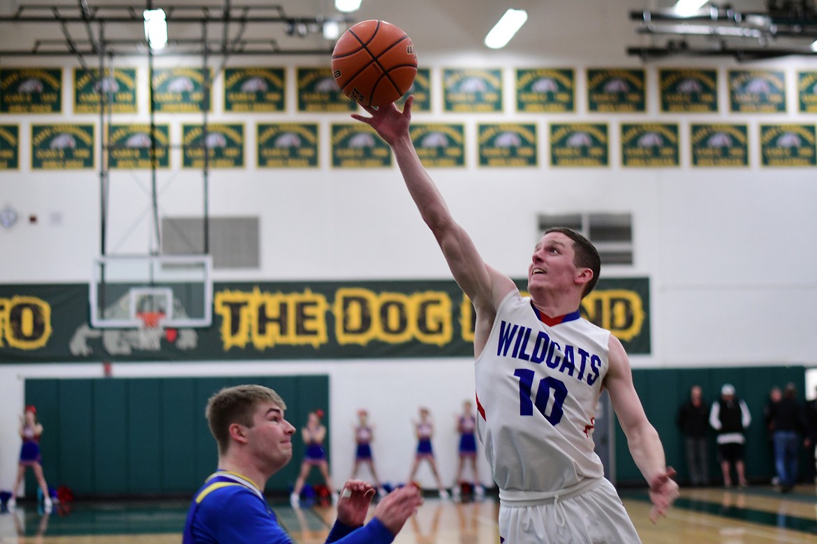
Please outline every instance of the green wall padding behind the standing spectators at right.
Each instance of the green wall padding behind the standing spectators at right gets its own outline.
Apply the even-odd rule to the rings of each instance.
[[[712,405],[712,401],[721,396],[721,386],[724,383],[734,385],[736,396],[746,401],[752,414],[752,424],[746,433],[744,450],[746,475],[750,482],[768,484],[775,475],[770,436],[763,422],[763,410],[769,399],[769,391],[775,386],[782,389],[787,383],[792,382],[797,386],[798,400],[802,403],[805,399],[806,369],[803,366],[634,369],[632,379],[647,418],[659,432],[667,454],[667,465],[678,471],[677,478],[681,484],[689,480],[689,473],[686,470],[683,436],[675,422],[678,409],[689,399],[690,387],[694,384],[703,388],[704,402],[708,405]],[[801,450],[800,458],[802,469],[803,463],[806,462],[805,450]],[[646,484],[641,471],[632,461],[627,448],[627,437],[624,436],[618,422],[615,459],[617,484]],[[722,484],[721,467],[717,463],[715,431],[711,431],[709,465],[712,484]]]

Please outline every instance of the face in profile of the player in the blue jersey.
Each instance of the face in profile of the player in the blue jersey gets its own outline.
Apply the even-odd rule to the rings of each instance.
[[[258,405],[247,432],[254,457],[266,465],[270,474],[292,459],[295,427],[283,418],[283,410],[278,405],[271,402]]]

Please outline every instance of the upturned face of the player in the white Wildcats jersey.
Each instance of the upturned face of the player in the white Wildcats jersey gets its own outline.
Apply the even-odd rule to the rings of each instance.
[[[548,232],[534,248],[528,267],[528,289],[569,289],[576,285],[573,241],[561,232]]]

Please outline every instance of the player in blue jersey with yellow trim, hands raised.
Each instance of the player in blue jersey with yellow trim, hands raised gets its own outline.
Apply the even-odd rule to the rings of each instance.
[[[292,542],[261,491],[292,459],[295,427],[283,418],[284,409],[275,391],[256,385],[226,387],[210,398],[205,415],[218,444],[219,470],[190,504],[183,544]],[[326,542],[392,542],[422,503],[413,486],[396,489],[364,525],[374,493],[363,481],[346,482]]]

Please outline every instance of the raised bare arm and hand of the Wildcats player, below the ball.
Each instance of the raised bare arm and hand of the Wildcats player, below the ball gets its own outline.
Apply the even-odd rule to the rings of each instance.
[[[386,144],[391,146],[408,192],[420,210],[422,219],[440,244],[454,280],[477,307],[477,311],[496,308],[509,291],[516,289],[516,285],[510,278],[484,263],[471,237],[453,220],[440,191],[422,166],[408,135],[413,101],[413,96],[409,96],[402,112],[395,104],[380,108],[364,106],[371,117],[358,114],[352,114],[352,117],[372,126]]]

